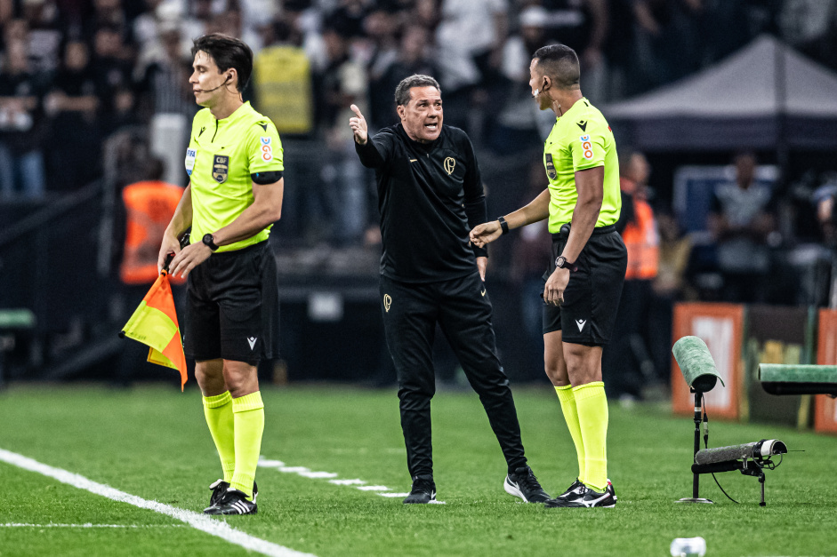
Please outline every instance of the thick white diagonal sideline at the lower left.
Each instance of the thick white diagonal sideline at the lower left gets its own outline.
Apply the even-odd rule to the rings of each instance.
[[[179,521],[186,522],[194,529],[199,529],[211,536],[220,537],[230,544],[240,545],[245,549],[270,555],[271,557],[313,557],[310,553],[302,553],[295,551],[284,545],[274,544],[259,537],[251,536],[241,530],[237,530],[229,526],[227,522],[217,521],[209,518],[206,514],[195,513],[172,505],[165,505],[157,501],[149,501],[125,491],[111,488],[109,485],[97,483],[93,480],[88,480],[85,476],[77,473],[68,472],[61,468],[54,468],[50,465],[45,465],[32,458],[24,457],[16,452],[10,450],[0,449],[0,460],[3,462],[18,466],[29,472],[36,472],[49,476],[61,483],[66,483],[78,489],[85,489],[95,495],[108,497],[114,501],[127,503],[128,505],[138,506],[142,509],[149,509],[156,513],[167,514]]]

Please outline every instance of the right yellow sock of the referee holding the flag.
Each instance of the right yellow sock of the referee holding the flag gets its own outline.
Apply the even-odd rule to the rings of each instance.
[[[264,431],[262,393],[256,391],[232,399],[232,413],[236,427],[236,472],[232,474],[229,487],[243,491],[248,499],[252,499]]]

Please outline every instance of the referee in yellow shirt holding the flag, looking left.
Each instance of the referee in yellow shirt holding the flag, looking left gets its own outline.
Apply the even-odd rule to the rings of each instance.
[[[198,105],[192,123],[183,193],[165,231],[157,267],[170,253],[172,275],[187,283],[186,355],[221,458],[207,514],[254,514],[255,471],[264,404],[256,373],[277,355],[276,261],[270,227],[281,214],[285,181],[276,126],[241,99],[253,52],[236,38],[212,34],[192,46],[189,84]],[[191,227],[193,242],[178,238]]]

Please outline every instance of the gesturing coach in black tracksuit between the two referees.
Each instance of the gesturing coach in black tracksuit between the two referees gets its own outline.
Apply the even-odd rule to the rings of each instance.
[[[442,127],[439,84],[410,76],[395,90],[400,123],[368,137],[355,105],[355,148],[373,168],[381,213],[381,304],[387,345],[398,373],[401,429],[413,487],[405,503],[436,498],[431,349],[436,323],[463,366],[500,442],[504,489],[527,502],[549,496],[527,465],[509,380],[497,358],[491,303],[483,284],[487,255],[469,246],[469,229],[485,221],[486,201],[471,140]]]

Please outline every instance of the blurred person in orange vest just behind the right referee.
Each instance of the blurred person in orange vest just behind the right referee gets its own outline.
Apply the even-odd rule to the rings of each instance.
[[[648,348],[648,307],[659,264],[659,237],[654,211],[648,204],[650,167],[645,155],[620,149],[619,174],[622,213],[616,227],[621,228],[628,249],[628,268],[601,370],[608,394],[639,399],[643,387],[655,376]]]

